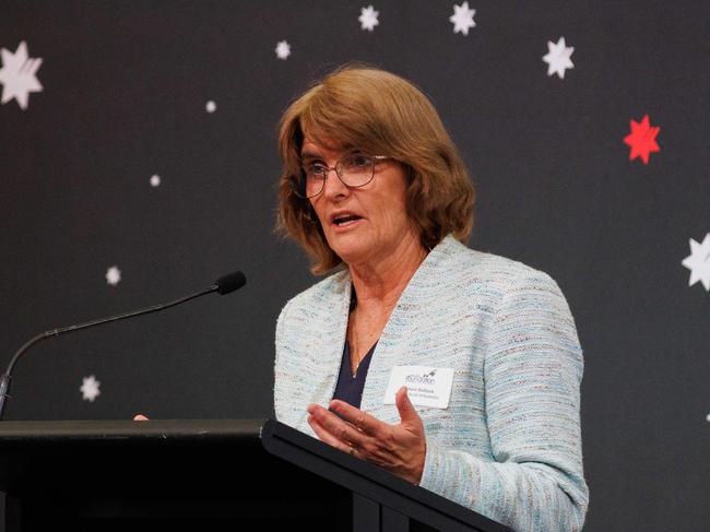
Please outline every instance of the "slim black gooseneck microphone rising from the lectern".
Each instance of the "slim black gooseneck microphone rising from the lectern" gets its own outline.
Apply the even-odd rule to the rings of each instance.
[[[190,294],[189,296],[182,297],[180,299],[176,299],[174,302],[164,303],[162,305],[154,305],[152,307],[143,308],[140,310],[131,310],[130,312],[119,314],[116,316],[110,316],[108,318],[100,318],[97,320],[87,321],[85,323],[62,327],[60,329],[51,329],[49,331],[45,331],[40,334],[37,334],[33,339],[31,339],[27,343],[25,343],[22,347],[20,347],[20,350],[15,353],[15,355],[10,360],[10,364],[8,365],[8,369],[5,369],[4,375],[0,377],[0,421],[2,421],[2,411],[4,410],[5,399],[10,398],[8,392],[10,391],[10,381],[12,380],[12,369],[17,363],[17,359],[29,347],[32,347],[40,340],[50,336],[58,336],[59,334],[63,334],[66,332],[74,332],[81,329],[88,329],[90,327],[100,326],[102,323],[108,323],[109,321],[125,320],[127,318],[141,316],[143,314],[157,312],[158,310],[164,310],[166,308],[175,307],[176,305],[180,305],[181,303],[189,302],[190,299],[194,299],[196,297],[200,297],[210,294],[212,292],[216,292],[220,295],[226,295],[236,289],[241,288],[245,284],[247,284],[247,277],[245,276],[244,273],[236,271],[221,276],[209,288],[205,288],[201,292],[197,292],[194,294]]]

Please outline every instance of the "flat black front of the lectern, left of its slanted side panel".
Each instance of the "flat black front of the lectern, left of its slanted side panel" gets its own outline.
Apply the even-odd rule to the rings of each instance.
[[[263,423],[1,422],[5,530],[350,530],[350,492],[265,452]]]

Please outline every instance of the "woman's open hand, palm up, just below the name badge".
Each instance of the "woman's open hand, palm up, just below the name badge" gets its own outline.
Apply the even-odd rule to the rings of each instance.
[[[418,484],[426,453],[424,423],[406,394],[406,387],[398,390],[394,403],[402,419],[399,425],[381,422],[339,400],[331,401],[330,409],[342,418],[309,404],[308,424],[326,444]]]

